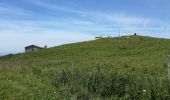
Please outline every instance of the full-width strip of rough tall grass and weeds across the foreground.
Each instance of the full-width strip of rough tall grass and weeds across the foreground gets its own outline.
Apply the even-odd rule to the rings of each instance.
[[[100,67],[91,72],[74,66],[60,70],[51,67],[48,71],[36,65],[1,69],[0,99],[170,99],[166,77]]]

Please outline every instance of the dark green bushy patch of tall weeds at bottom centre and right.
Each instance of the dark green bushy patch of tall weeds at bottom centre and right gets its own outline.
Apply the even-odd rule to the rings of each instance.
[[[57,75],[55,86],[76,99],[168,100],[169,82],[165,78],[137,76],[124,72],[87,73],[69,70]]]

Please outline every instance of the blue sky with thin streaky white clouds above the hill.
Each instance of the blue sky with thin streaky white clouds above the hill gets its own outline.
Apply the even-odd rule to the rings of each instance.
[[[137,33],[170,38],[170,0],[0,0],[0,55]]]

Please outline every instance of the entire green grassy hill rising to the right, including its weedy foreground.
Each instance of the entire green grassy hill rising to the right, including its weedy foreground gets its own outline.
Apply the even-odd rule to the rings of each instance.
[[[170,40],[104,38],[0,57],[0,99],[170,99]]]

